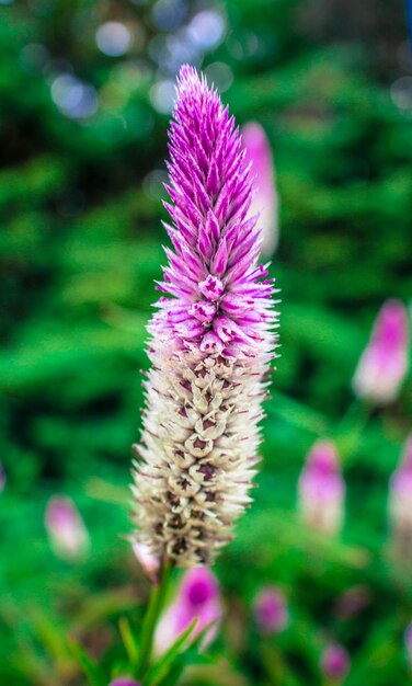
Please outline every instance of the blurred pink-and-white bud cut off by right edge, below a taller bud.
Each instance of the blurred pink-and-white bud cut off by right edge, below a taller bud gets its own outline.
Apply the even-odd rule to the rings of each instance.
[[[389,515],[396,554],[412,562],[412,434],[389,485]]]

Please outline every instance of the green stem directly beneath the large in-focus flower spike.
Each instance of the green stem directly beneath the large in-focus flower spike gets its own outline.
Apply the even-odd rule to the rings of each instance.
[[[136,665],[136,675],[140,681],[144,679],[146,672],[150,665],[152,649],[153,649],[153,636],[156,625],[159,619],[159,615],[162,610],[165,595],[169,587],[169,581],[171,576],[172,564],[170,561],[165,561],[162,565],[161,576],[159,584],[156,584],[151,588],[149,606],[145,615],[145,619],[141,627],[140,650],[139,658]]]

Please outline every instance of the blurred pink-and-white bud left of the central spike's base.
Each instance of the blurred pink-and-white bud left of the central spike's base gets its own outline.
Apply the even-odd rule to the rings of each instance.
[[[45,525],[55,553],[75,560],[89,548],[89,535],[73,501],[66,495],[54,495],[47,503]]]

